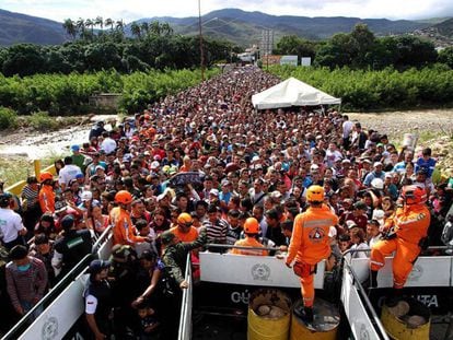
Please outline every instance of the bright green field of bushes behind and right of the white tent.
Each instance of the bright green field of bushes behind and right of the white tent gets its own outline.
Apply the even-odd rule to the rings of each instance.
[[[443,65],[404,72],[349,68],[271,67],[269,71],[287,79],[294,77],[334,96],[341,97],[347,110],[384,110],[449,106],[453,98],[453,70]]]

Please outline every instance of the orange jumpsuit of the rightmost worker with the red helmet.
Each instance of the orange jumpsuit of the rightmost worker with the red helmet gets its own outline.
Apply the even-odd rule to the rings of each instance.
[[[428,234],[431,221],[429,209],[425,204],[398,208],[394,216],[396,237],[378,242],[371,249],[371,270],[380,270],[385,265],[385,257],[395,253],[393,259],[393,285],[402,289],[413,266],[420,254],[419,242]]]

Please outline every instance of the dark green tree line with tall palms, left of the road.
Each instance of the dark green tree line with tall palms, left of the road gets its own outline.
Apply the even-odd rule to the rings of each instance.
[[[132,73],[200,66],[199,37],[174,34],[167,23],[132,23],[131,36],[121,20],[68,19],[62,25],[69,38],[62,45],[18,44],[0,48],[0,72],[5,77],[108,69]],[[206,67],[230,60],[231,51],[237,51],[237,47],[230,42],[204,39]]]

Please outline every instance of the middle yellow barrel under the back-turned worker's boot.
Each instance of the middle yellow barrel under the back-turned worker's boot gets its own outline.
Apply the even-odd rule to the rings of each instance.
[[[299,300],[293,309],[300,308],[302,301]],[[334,340],[340,323],[338,308],[325,300],[316,297],[313,305],[313,323],[306,324],[294,313],[291,317],[290,340]]]

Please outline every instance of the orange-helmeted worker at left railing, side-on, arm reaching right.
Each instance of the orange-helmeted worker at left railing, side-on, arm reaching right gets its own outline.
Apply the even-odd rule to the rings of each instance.
[[[115,202],[118,207],[112,209],[109,218],[113,227],[114,245],[129,245],[133,246],[138,242],[149,242],[148,237],[137,236],[136,228],[130,220],[130,203],[132,202],[132,195],[127,190],[120,190],[115,195]]]

